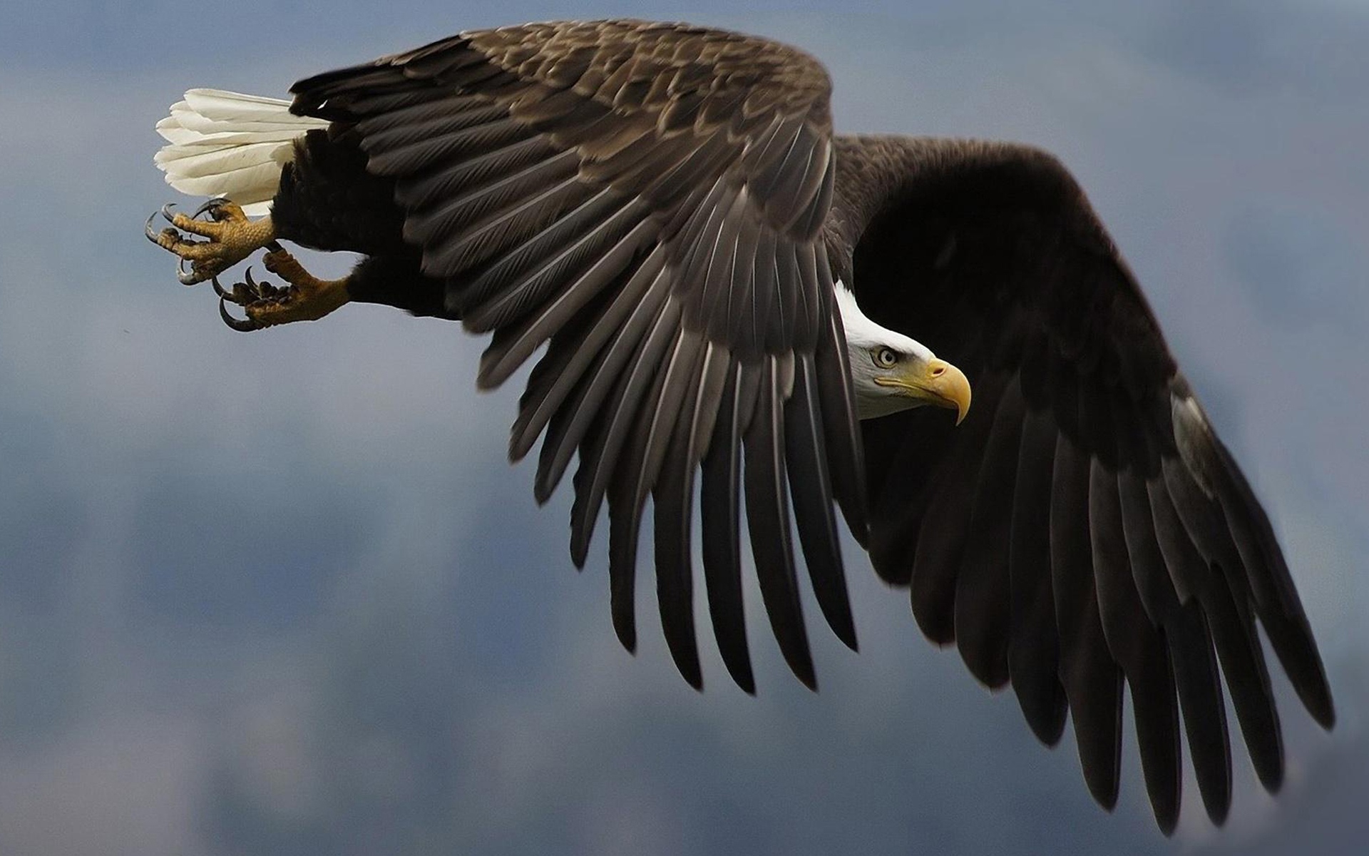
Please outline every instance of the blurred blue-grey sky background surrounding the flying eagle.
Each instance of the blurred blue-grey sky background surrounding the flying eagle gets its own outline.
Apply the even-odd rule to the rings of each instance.
[[[0,852],[1369,841],[1369,3],[747,5],[0,15]],[[841,130],[1028,141],[1075,171],[1264,497],[1321,642],[1340,719],[1320,733],[1276,677],[1277,800],[1240,749],[1227,829],[1190,777],[1165,841],[1128,711],[1103,814],[1072,737],[1039,746],[854,549],[861,653],[806,603],[820,694],[780,660],[754,583],[758,697],[727,679],[704,619],[697,694],[652,586],[638,655],[619,648],[605,529],[576,575],[568,492],[535,508],[531,467],[504,459],[517,390],[474,392],[479,341],[381,307],[241,336],[141,237],[163,201],[190,203],[152,166],[152,126],[189,86],[279,96],[467,27],[609,15],[801,45],[831,70]]]

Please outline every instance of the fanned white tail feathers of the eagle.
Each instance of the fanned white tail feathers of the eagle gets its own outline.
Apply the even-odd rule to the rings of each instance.
[[[326,119],[297,116],[290,103],[222,89],[190,89],[157,122],[167,141],[152,162],[192,196],[226,196],[251,216],[271,210],[294,140]]]

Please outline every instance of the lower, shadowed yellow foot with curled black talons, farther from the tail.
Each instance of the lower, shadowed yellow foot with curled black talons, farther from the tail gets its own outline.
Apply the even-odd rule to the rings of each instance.
[[[319,279],[304,270],[294,256],[283,249],[268,252],[261,262],[266,268],[289,284],[279,288],[270,282],[257,282],[249,267],[245,282],[238,282],[231,290],[219,285],[214,277],[214,290],[219,296],[219,316],[223,323],[240,333],[251,333],[264,327],[290,323],[293,320],[318,320],[333,310],[350,301],[346,282],[342,279]],[[234,318],[227,304],[235,303],[246,311],[246,318]]]

